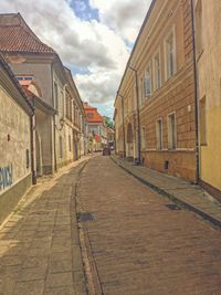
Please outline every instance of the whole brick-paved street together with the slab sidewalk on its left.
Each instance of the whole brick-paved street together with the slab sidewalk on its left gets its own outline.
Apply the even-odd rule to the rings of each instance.
[[[109,157],[63,168],[1,226],[0,294],[221,294],[220,230],[168,204]]]

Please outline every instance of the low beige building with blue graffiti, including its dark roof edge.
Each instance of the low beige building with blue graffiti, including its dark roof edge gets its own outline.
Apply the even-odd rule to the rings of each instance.
[[[0,54],[0,223],[32,185],[33,108]]]

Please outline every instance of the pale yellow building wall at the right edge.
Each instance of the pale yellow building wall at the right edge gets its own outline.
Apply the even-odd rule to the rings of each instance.
[[[194,0],[200,182],[221,199],[221,1]]]

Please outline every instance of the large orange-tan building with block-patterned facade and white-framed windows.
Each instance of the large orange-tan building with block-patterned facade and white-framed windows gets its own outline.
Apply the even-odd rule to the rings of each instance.
[[[116,150],[158,171],[196,181],[190,0],[155,0],[115,101]]]

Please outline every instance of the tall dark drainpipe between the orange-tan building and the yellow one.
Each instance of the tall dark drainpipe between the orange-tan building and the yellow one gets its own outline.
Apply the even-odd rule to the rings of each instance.
[[[193,50],[193,75],[194,75],[194,126],[196,126],[196,160],[197,172],[196,183],[200,179],[200,157],[199,157],[199,108],[198,108],[198,71],[197,71],[197,54],[196,54],[196,38],[194,38],[194,8],[193,0],[191,0],[191,21],[192,21],[192,50]]]

